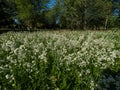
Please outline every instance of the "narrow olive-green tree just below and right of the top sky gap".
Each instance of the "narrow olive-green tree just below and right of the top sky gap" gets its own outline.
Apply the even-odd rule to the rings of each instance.
[[[54,7],[47,10],[45,18],[47,21],[48,28],[55,29],[60,27],[59,18],[62,14],[62,10],[63,10],[62,6],[63,6],[62,0],[56,0]]]

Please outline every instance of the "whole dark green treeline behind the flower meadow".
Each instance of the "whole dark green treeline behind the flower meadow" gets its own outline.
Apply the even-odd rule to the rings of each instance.
[[[0,0],[0,28],[108,29],[120,27],[116,0]],[[114,11],[118,12],[114,12]]]

